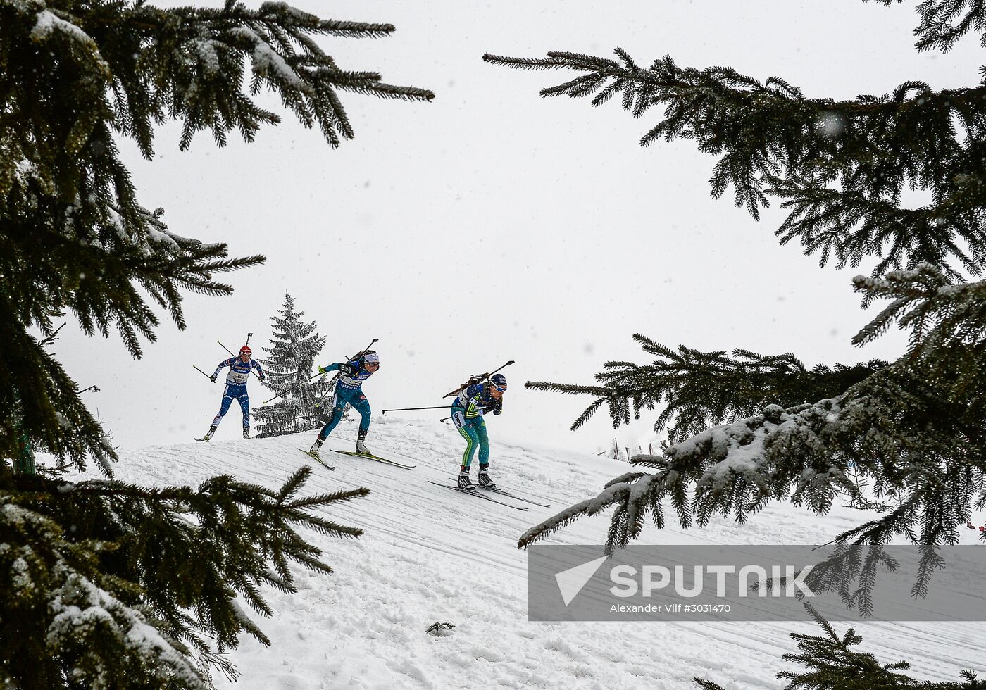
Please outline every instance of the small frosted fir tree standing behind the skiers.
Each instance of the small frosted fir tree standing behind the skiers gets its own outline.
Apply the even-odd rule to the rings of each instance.
[[[315,321],[301,320],[305,312],[295,311],[295,299],[291,295],[284,294],[284,305],[278,313],[279,316],[270,317],[274,344],[263,348],[268,355],[262,363],[267,373],[264,384],[281,397],[253,413],[258,422],[258,436],[292,434],[324,424],[321,411],[326,405],[316,405],[330,383],[324,377],[312,380],[312,373],[325,338],[318,335]]]

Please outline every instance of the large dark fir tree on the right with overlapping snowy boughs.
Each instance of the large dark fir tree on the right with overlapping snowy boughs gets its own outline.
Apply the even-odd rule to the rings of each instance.
[[[918,13],[919,50],[949,50],[969,32],[986,46],[982,2],[924,0]],[[594,106],[615,100],[656,120],[642,145],[680,137],[717,157],[713,196],[732,186],[736,205],[754,220],[774,197],[789,212],[776,231],[780,242],[800,242],[822,266],[872,266],[854,279],[855,289],[864,308],[883,307],[855,344],[897,325],[909,331],[909,346],[893,362],[808,368],[793,354],[674,349],[635,335],[652,362],[606,363],[595,385],[528,381],[596,397],[573,427],[602,405],[614,428],[661,406],[655,431],[667,428],[668,442],[660,454],[632,458],[639,471],[533,526],[521,546],[610,509],[610,551],[636,539],[648,520],[658,527],[669,517],[684,526],[715,516],[742,521],[786,499],[823,514],[840,493],[866,498],[855,473],[893,509],[839,534],[840,550],[812,571],[812,588],[831,576],[856,590],[860,575],[865,593],[878,580],[880,546],[900,538],[925,554],[915,583],[921,591],[939,565],[935,546],[955,543],[970,513],[986,506],[986,280],[979,279],[986,66],[979,66],[984,79],[967,88],[909,81],[884,96],[837,101],[809,98],[780,77],[760,82],[730,67],[679,67],[670,56],[641,65],[621,48],[615,53],[484,59],[574,70],[541,95],[591,97]],[[930,201],[906,206],[908,188]],[[843,568],[852,544],[871,547],[862,574]]]

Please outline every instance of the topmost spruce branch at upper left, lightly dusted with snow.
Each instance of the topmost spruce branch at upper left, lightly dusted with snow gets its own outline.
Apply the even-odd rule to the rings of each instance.
[[[172,21],[174,15],[180,17],[178,25]],[[255,11],[233,3],[223,9],[140,8],[134,12],[134,22],[144,27],[148,39],[144,49],[175,74],[174,93],[162,96],[172,116],[185,121],[182,148],[190,145],[198,129],[212,130],[222,145],[233,126],[239,126],[248,141],[259,124],[278,121],[277,115],[257,108],[245,95],[238,99],[232,118],[225,114],[219,118],[216,99],[227,98],[231,87],[239,90],[245,78],[244,58],[252,72],[250,95],[263,86],[277,91],[299,121],[308,127],[317,124],[333,147],[353,137],[337,90],[411,101],[434,98],[427,89],[387,84],[373,71],[341,69],[313,39],[314,35],[385,36],[394,31],[389,24],[320,20],[285,3],[264,3]]]

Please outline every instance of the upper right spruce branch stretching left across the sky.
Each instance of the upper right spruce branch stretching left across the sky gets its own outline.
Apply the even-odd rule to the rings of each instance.
[[[754,219],[768,196],[793,203],[800,217],[794,215],[778,233],[786,241],[805,236],[807,251],[825,252],[822,262],[836,248],[835,240],[848,260],[854,260],[857,246],[869,252],[881,246],[873,237],[876,231],[866,226],[867,214],[855,219],[864,227],[854,229],[852,214],[833,213],[824,194],[841,190],[899,209],[901,190],[913,185],[930,190],[947,212],[896,214],[894,224],[882,227],[884,240],[887,234],[892,238],[885,267],[917,261],[944,266],[951,255],[966,266],[983,265],[975,248],[986,243],[986,192],[977,153],[986,121],[986,84],[935,91],[906,82],[884,96],[809,99],[777,77],[760,82],[731,68],[681,68],[669,56],[642,68],[625,51],[617,48],[616,53],[618,61],[562,51],[538,59],[491,54],[483,59],[518,69],[582,73],[543,89],[545,97],[596,94],[592,104],[601,105],[620,95],[622,107],[638,118],[663,108],[642,145],[694,139],[700,151],[719,159],[710,180],[713,195],[721,196],[732,185],[736,205]],[[806,180],[810,190],[800,189]],[[955,208],[965,197],[965,210]],[[933,235],[922,237],[921,231],[929,229]],[[819,242],[824,231],[836,235]],[[973,253],[957,240],[971,243]]]

